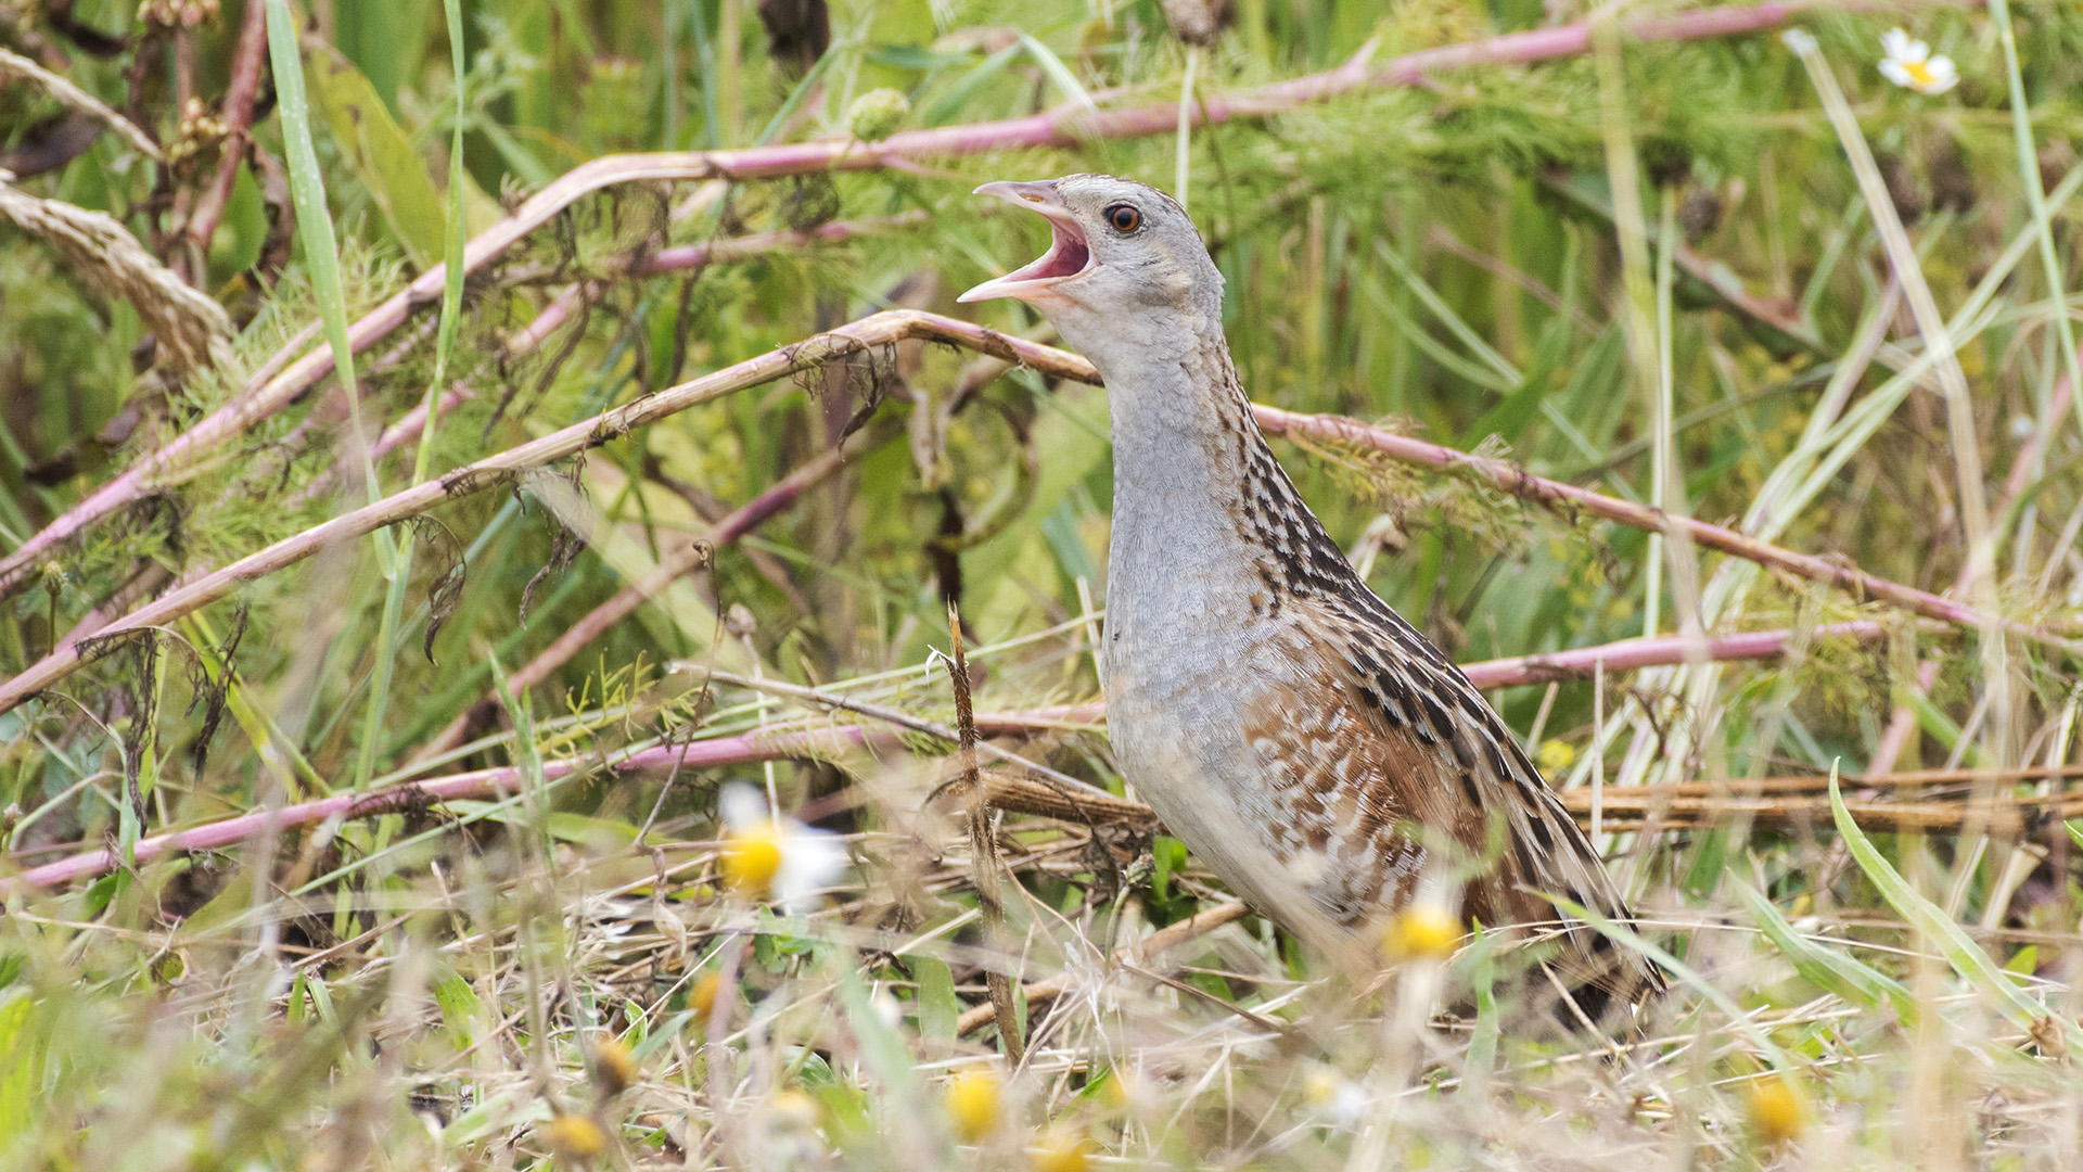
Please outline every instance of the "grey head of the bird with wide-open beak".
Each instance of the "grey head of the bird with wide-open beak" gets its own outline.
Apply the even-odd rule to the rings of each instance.
[[[985,184],[979,196],[1039,213],[1050,246],[1039,261],[983,282],[958,300],[1025,300],[1079,344],[1094,325],[1219,327],[1223,273],[1185,209],[1164,192],[1114,175]],[[1181,321],[1183,317],[1183,321]]]

